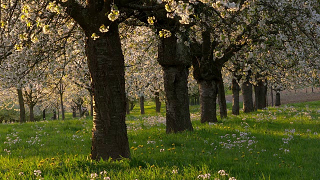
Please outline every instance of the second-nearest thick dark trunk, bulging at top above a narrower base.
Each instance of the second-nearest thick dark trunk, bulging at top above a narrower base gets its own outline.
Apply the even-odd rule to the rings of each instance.
[[[193,130],[188,101],[187,78],[191,64],[187,46],[176,41],[172,33],[170,37],[161,38],[158,45],[158,62],[162,66],[166,132]],[[182,40],[183,41],[183,40]]]

